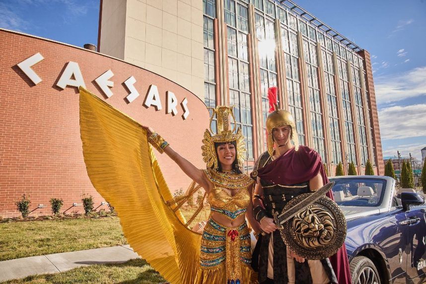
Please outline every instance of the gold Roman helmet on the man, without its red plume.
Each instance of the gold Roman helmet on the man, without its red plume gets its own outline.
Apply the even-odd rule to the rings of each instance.
[[[290,140],[293,141],[295,150],[299,148],[299,140],[297,136],[296,123],[293,116],[290,112],[284,109],[278,109],[278,106],[275,105],[275,110],[271,112],[266,118],[266,131],[268,133],[268,152],[272,156],[274,154],[274,138],[272,136],[272,130],[277,127],[290,126],[291,127],[291,137]]]

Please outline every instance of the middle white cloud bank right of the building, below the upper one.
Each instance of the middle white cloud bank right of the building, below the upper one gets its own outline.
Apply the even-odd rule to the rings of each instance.
[[[426,104],[392,106],[378,111],[382,140],[426,136]]]

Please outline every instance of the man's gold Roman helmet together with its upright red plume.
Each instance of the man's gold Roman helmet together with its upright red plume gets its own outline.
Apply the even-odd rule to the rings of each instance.
[[[270,87],[268,89],[269,99],[269,112],[270,114],[266,118],[266,132],[268,136],[268,152],[272,156],[274,154],[274,138],[272,136],[272,130],[277,127],[288,125],[291,127],[290,140],[293,141],[294,148],[297,151],[299,148],[299,140],[297,136],[296,123],[290,112],[284,109],[278,109],[277,105],[277,87]]]

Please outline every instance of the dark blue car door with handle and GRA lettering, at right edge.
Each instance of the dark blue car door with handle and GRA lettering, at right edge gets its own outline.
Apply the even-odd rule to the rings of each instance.
[[[413,206],[406,214],[408,247],[411,248],[407,277],[410,283],[423,283],[426,273],[426,209]]]

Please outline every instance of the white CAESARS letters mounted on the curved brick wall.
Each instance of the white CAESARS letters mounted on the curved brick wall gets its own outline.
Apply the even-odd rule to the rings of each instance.
[[[17,64],[17,66],[28,76],[28,78],[35,85],[37,85],[42,81],[42,78],[40,78],[40,76],[32,69],[32,67],[43,60],[44,57],[40,53],[36,53],[33,56]],[[113,92],[110,89],[110,87],[114,87],[114,82],[110,80],[113,76],[114,73],[110,69],[94,80],[107,98],[110,98],[113,95]],[[135,83],[136,78],[133,75],[123,82],[127,90],[130,92],[129,95],[125,98],[129,103],[133,102],[137,97],[140,96],[139,91],[134,86]],[[67,86],[83,86],[84,88],[86,88],[78,63],[71,61],[68,62],[65,70],[62,72],[62,75],[56,85],[61,89],[65,89]],[[189,109],[187,104],[188,100],[185,97],[180,103],[183,111],[182,119],[184,120],[187,119],[189,116]],[[143,105],[146,108],[153,106],[157,111],[163,108],[156,85],[151,84],[149,86],[145,99],[143,101]],[[166,91],[166,114],[171,113],[173,116],[177,115],[177,105],[178,101],[176,99],[175,94],[171,91]]]

